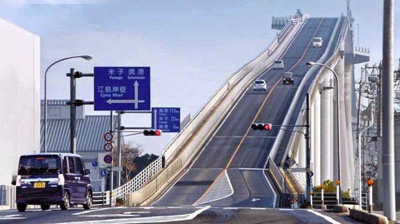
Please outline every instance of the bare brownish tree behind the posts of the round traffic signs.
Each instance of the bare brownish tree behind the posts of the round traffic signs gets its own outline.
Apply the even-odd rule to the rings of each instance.
[[[131,174],[136,170],[134,159],[142,152],[142,145],[129,141],[121,145],[121,184],[131,179]],[[118,158],[117,150],[113,150],[113,157]],[[117,159],[113,159],[114,166],[117,166]]]

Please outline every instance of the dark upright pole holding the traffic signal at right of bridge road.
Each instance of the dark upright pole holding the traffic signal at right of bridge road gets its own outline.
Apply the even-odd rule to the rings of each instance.
[[[307,180],[306,180],[306,190],[307,190],[307,200],[311,201],[311,176],[309,175],[310,170],[310,160],[311,160],[311,148],[310,148],[310,136],[309,136],[309,92],[307,92],[306,95],[306,100],[305,100],[305,150],[306,150],[306,175],[307,175]]]

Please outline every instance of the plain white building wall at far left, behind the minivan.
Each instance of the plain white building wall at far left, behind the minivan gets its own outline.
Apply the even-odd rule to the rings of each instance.
[[[40,39],[0,18],[0,184],[10,184],[19,155],[39,150]]]

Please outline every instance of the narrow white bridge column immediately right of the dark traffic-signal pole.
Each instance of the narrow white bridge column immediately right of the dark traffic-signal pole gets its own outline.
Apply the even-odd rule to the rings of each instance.
[[[312,159],[314,164],[314,181],[313,185],[321,184],[321,165],[320,165],[320,95],[315,94],[314,100],[312,103],[312,149],[314,151],[314,157]]]

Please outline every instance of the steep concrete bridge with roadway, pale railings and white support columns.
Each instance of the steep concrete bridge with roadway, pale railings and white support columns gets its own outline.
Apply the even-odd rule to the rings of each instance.
[[[113,190],[113,200],[125,197],[127,205],[279,207],[287,205],[288,196],[300,203],[309,171],[312,185],[338,178],[337,134],[341,187],[356,190],[353,64],[369,60],[369,52],[353,45],[349,15],[311,17],[298,11],[286,20],[266,49],[217,89],[162,156]],[[322,47],[312,46],[314,37],[322,37]],[[283,71],[272,69],[276,59],[284,61]],[[309,67],[308,61],[333,68],[338,86],[329,69]],[[293,72],[293,85],[282,83],[286,71]],[[253,91],[255,79],[264,79],[267,90]],[[304,138],[307,112],[309,134]],[[280,128],[251,129],[257,122]]]

